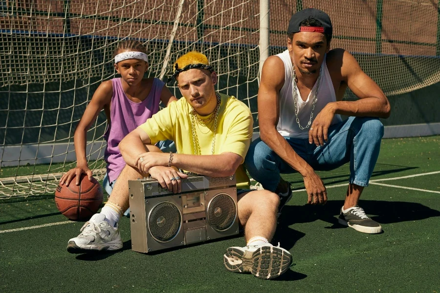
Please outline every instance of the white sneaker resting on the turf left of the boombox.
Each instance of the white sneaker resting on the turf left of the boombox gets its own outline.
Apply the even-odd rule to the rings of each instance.
[[[90,251],[116,251],[122,248],[122,238],[119,229],[113,228],[105,221],[103,214],[94,214],[81,228],[81,234],[67,243],[70,253]]]

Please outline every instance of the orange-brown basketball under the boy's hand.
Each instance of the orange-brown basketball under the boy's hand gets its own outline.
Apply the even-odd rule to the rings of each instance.
[[[102,188],[95,178],[88,180],[81,174],[80,185],[72,178],[69,186],[58,185],[55,190],[55,203],[58,210],[70,220],[88,221],[102,203]]]

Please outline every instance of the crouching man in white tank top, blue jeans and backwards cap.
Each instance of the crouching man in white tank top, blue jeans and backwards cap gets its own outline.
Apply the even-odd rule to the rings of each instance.
[[[379,155],[383,125],[378,118],[390,116],[390,104],[349,52],[330,50],[331,36],[324,11],[308,8],[292,16],[287,50],[264,62],[258,91],[260,138],[252,142],[245,165],[264,189],[280,195],[281,210],[292,192],[280,173],[299,172],[308,204],[325,204],[327,190],[315,170],[350,162],[339,223],[379,233],[381,226],[358,200]],[[347,87],[357,101],[342,101]],[[342,121],[340,114],[351,117]]]

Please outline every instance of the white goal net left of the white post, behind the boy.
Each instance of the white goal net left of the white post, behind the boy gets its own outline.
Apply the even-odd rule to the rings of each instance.
[[[203,52],[220,75],[218,90],[240,92],[249,105],[258,87],[258,13],[255,0],[0,2],[0,198],[54,192],[75,167],[75,126],[97,86],[116,76],[120,40],[143,42],[147,75],[163,80],[179,55]],[[105,174],[105,128],[101,113],[88,131],[97,179]]]

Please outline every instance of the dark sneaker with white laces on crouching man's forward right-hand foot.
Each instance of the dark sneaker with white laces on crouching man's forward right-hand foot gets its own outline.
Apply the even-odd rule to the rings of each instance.
[[[343,212],[343,208],[344,206],[342,206],[339,215],[339,224],[352,227],[354,230],[363,233],[376,234],[382,232],[379,223],[370,219],[361,207],[354,206],[348,209],[347,212]]]

